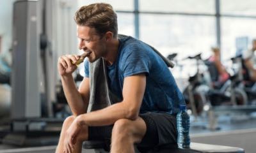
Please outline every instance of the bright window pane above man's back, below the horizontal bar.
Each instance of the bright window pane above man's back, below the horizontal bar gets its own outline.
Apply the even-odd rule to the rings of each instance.
[[[214,17],[141,14],[140,21],[140,39],[164,56],[175,52],[183,59],[202,52],[207,57],[216,43]]]

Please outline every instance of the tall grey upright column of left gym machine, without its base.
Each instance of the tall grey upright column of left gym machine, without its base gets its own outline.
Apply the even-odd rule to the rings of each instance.
[[[37,1],[13,4],[12,119],[40,117]]]

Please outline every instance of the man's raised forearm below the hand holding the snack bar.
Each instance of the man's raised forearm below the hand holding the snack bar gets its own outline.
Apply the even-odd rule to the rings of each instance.
[[[88,105],[85,105],[83,98],[79,91],[77,90],[74,78],[72,75],[61,77],[61,82],[63,85],[63,91],[67,99],[68,105],[73,113],[73,115],[80,115],[86,113]]]

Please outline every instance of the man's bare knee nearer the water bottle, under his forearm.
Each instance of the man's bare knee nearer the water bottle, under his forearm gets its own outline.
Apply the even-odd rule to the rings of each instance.
[[[112,136],[118,136],[119,138],[127,138],[132,136],[132,123],[131,120],[128,119],[119,119],[116,120],[113,130]]]

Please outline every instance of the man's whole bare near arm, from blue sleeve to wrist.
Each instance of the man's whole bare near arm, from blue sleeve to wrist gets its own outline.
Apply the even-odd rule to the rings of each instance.
[[[144,74],[126,77],[123,88],[123,101],[102,110],[79,115],[77,123],[83,126],[108,126],[119,119],[136,120],[146,87]]]

